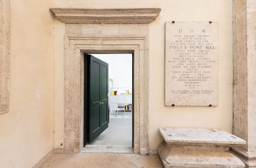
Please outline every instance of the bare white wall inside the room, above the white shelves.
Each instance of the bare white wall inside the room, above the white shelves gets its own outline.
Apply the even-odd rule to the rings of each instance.
[[[113,79],[114,88],[132,88],[133,60],[131,53],[91,55],[109,64],[109,78]]]

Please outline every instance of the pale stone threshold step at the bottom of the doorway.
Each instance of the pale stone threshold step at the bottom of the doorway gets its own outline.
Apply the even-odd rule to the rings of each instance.
[[[97,153],[134,153],[132,146],[124,145],[86,145],[81,152]]]

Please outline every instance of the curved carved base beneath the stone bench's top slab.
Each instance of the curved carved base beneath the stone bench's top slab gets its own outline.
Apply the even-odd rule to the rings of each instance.
[[[223,146],[190,146],[162,143],[159,156],[164,167],[245,167]]]

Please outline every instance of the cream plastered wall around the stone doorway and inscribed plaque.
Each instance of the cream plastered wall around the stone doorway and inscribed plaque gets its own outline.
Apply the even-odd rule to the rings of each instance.
[[[232,1],[231,0],[54,0],[54,8],[161,8],[150,23],[150,150],[162,138],[159,127],[216,128],[232,131]],[[164,105],[165,21],[219,22],[219,105],[170,107]],[[63,143],[63,34],[65,24],[54,21],[55,148]],[[58,131],[56,131],[58,130]]]

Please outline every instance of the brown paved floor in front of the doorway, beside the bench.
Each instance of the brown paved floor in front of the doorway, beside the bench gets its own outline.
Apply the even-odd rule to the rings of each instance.
[[[163,167],[159,156],[115,153],[78,153],[52,155],[42,166],[54,168],[70,167]]]

